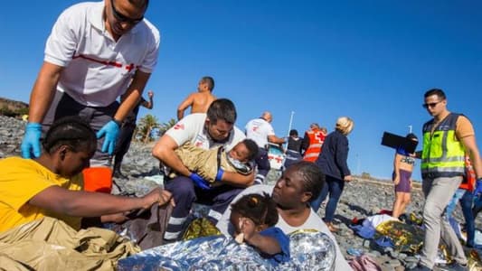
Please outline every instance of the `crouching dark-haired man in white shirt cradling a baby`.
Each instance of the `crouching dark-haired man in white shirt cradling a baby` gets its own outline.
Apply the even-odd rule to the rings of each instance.
[[[224,145],[229,152],[245,138],[234,126],[236,117],[236,108],[231,100],[216,99],[207,113],[182,118],[154,146],[152,154],[177,174],[174,179],[165,182],[165,189],[173,193],[176,203],[165,230],[165,240],[175,241],[180,237],[194,201],[211,205],[208,219],[216,223],[232,199],[254,181],[254,173],[243,175],[219,169],[215,182],[210,184],[198,173],[190,172],[175,154],[175,150],[187,142],[206,150]]]

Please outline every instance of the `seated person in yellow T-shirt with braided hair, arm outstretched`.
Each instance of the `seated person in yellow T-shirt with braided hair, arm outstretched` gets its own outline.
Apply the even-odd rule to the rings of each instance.
[[[171,193],[155,189],[142,198],[83,192],[81,171],[89,166],[97,139],[80,117],[64,117],[52,124],[43,141],[43,154],[0,161],[0,232],[40,220],[44,216],[80,229],[82,217],[101,221],[127,220],[129,210],[174,202]]]

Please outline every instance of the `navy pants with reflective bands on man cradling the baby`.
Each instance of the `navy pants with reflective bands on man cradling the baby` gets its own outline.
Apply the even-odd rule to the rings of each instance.
[[[210,205],[211,210],[208,220],[214,224],[221,219],[222,213],[228,208],[231,201],[238,195],[242,188],[231,185],[222,185],[211,190],[202,190],[194,186],[194,182],[188,177],[177,176],[165,183],[165,190],[173,193],[175,208],[165,230],[165,239],[176,240],[184,232],[187,216],[193,206],[193,202]]]

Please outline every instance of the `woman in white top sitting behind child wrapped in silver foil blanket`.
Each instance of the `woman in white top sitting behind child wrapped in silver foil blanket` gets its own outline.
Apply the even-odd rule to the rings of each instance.
[[[253,185],[245,189],[232,200],[236,202],[242,196],[252,193],[272,194],[273,201],[278,204],[279,221],[275,227],[290,234],[299,229],[316,229],[325,233],[335,243],[336,247],[336,271],[352,270],[343,257],[343,254],[336,243],[335,236],[326,227],[317,213],[309,207],[312,199],[317,199],[325,185],[325,175],[317,168],[316,164],[302,161],[290,165],[281,175],[275,186]],[[231,209],[228,208],[219,220],[216,227],[222,234],[232,236],[232,225],[230,223]]]

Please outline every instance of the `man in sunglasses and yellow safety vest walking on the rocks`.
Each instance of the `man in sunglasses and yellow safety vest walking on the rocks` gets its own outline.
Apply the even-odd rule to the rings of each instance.
[[[482,164],[474,127],[467,117],[449,112],[447,98],[441,89],[430,89],[424,97],[422,106],[433,117],[423,125],[421,151],[422,190],[425,195],[423,224],[426,230],[420,263],[410,270],[433,268],[440,238],[455,260],[449,266],[450,270],[468,270],[464,249],[449,222],[442,216],[465,175],[465,154],[470,155],[477,174],[476,192],[482,189]]]

